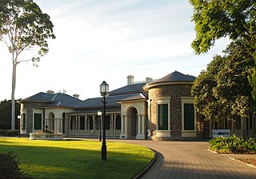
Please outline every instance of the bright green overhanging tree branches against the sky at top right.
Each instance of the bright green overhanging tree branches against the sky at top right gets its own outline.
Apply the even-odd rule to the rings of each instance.
[[[206,53],[223,37],[231,41],[243,38],[247,48],[255,52],[255,0],[190,0],[190,4],[194,6],[196,38],[192,47],[196,54]]]

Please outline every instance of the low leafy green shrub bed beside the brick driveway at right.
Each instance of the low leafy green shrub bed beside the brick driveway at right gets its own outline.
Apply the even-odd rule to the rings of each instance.
[[[220,153],[256,153],[256,139],[252,137],[215,137],[210,139],[209,145],[210,149]]]

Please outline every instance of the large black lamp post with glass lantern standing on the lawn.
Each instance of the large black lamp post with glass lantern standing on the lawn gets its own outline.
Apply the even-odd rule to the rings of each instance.
[[[105,117],[106,117],[106,94],[109,93],[109,85],[103,81],[100,85],[100,93],[103,96],[103,138],[102,138],[102,161],[106,161],[106,127],[105,127]]]

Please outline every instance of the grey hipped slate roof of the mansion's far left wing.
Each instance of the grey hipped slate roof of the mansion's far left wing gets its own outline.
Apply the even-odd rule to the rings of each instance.
[[[44,107],[62,106],[62,107],[76,107],[82,100],[71,97],[66,93],[37,93],[33,96],[26,97],[20,102],[40,101],[45,102]]]

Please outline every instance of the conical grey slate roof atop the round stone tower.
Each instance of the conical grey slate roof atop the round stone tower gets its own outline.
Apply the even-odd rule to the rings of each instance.
[[[160,82],[194,82],[195,78],[196,77],[194,76],[174,71],[173,73],[167,74],[165,77],[154,81],[152,84]]]

